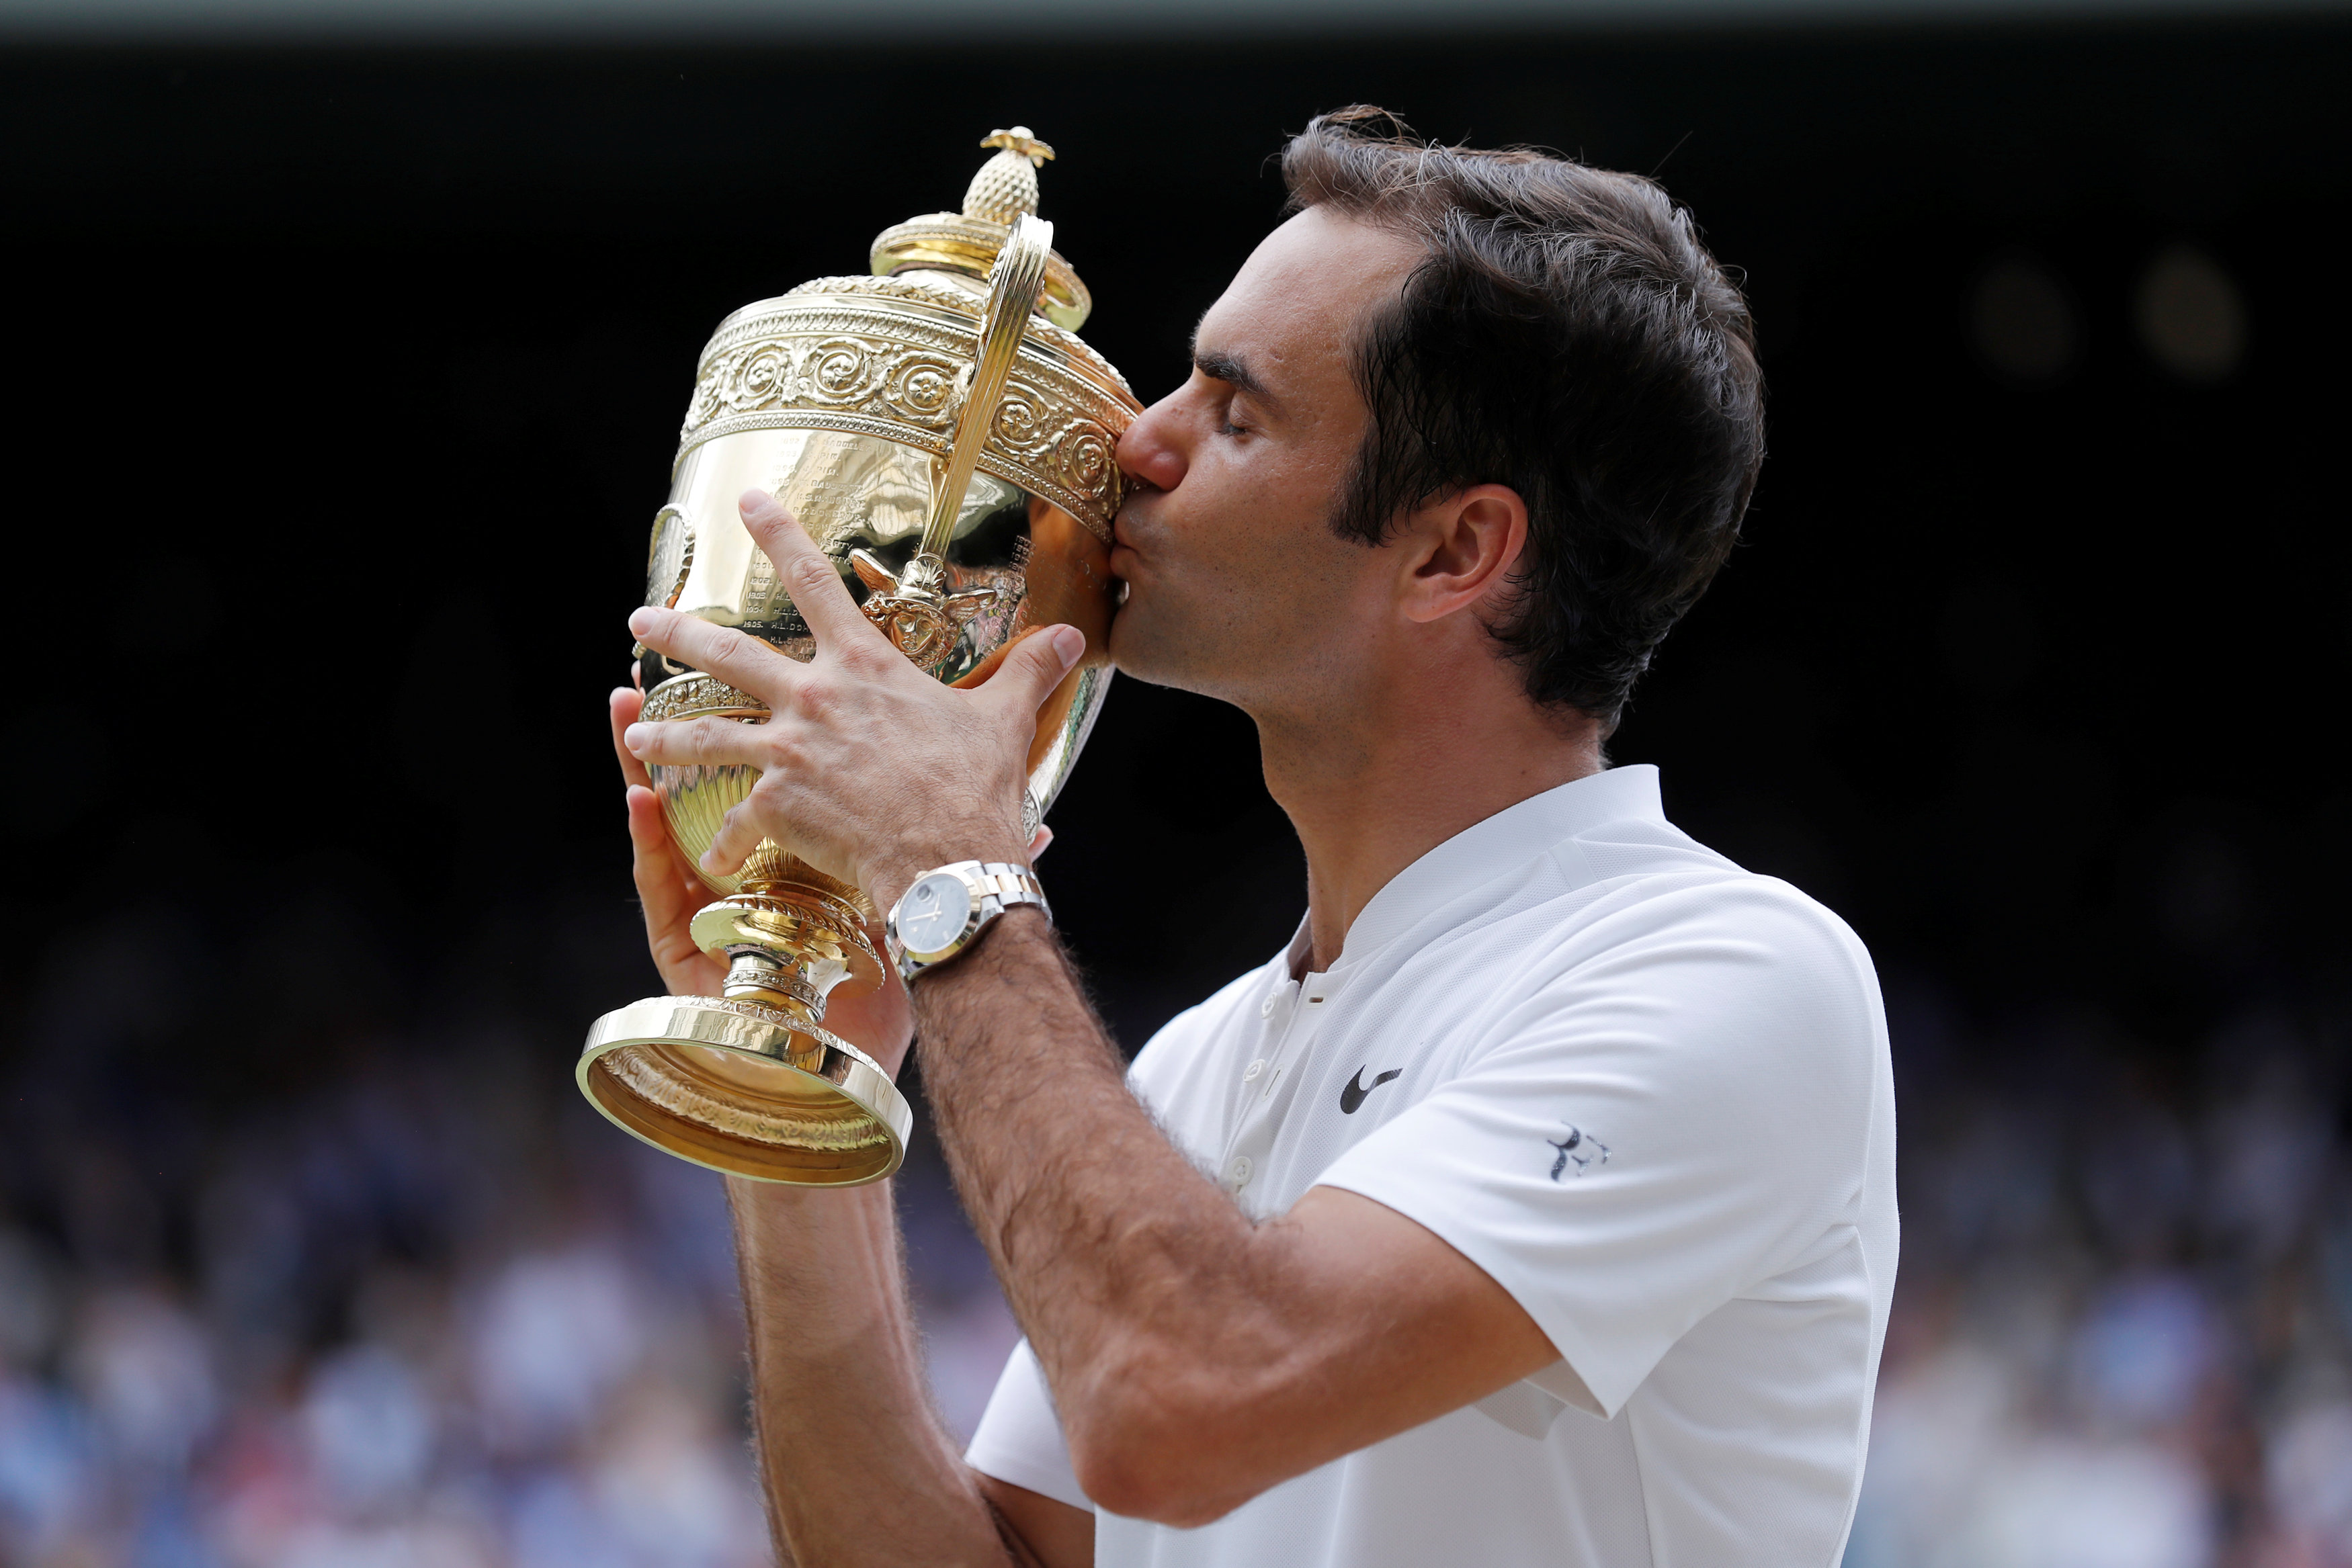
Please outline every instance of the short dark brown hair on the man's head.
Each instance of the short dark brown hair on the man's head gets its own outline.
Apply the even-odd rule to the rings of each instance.
[[[1334,529],[1381,543],[1449,491],[1519,491],[1526,550],[1489,630],[1538,703],[1616,724],[1731,552],[1764,461],[1748,301],[1637,174],[1430,146],[1359,103],[1294,136],[1282,179],[1291,212],[1428,247],[1357,343],[1371,428]]]

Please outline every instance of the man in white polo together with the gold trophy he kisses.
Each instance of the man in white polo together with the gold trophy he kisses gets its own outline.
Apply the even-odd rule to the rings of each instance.
[[[788,1178],[727,1187],[779,1561],[1837,1563],[1900,1251],[1870,952],[1604,750],[1764,458],[1738,275],[1651,179],[1355,106],[1129,416],[990,179],[884,235],[910,270],[722,329],[612,703],[680,999],[583,1081]],[[1308,872],[1291,940],[1131,1060],[1018,865],[1105,654],[1249,715]],[[854,990],[851,889],[908,985]],[[917,1032],[1021,1326],[969,1443],[896,1182],[854,1185]]]

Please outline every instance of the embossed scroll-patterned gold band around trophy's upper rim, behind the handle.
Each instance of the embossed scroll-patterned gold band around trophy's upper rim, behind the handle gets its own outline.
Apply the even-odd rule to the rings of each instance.
[[[976,301],[917,277],[818,277],[727,317],[703,350],[677,456],[736,430],[844,430],[948,454],[978,353]],[[1077,336],[1030,320],[981,473],[1108,541],[1117,430],[1143,404]]]

